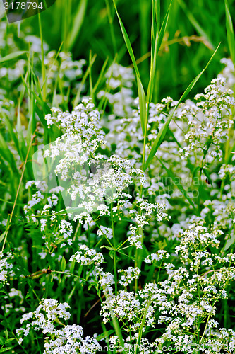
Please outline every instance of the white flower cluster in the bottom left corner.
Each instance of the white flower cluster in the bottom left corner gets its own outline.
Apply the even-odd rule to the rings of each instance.
[[[29,321],[26,328],[17,329],[19,343],[28,336],[30,329],[44,333],[44,354],[61,353],[97,353],[100,344],[95,337],[83,338],[83,328],[76,324],[64,325],[58,329],[56,325],[63,325],[60,319],[68,320],[71,314],[67,311],[68,304],[59,304],[55,299],[42,299],[34,312],[24,314],[20,323]]]

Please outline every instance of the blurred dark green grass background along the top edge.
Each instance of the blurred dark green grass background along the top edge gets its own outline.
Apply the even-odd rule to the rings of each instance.
[[[162,19],[169,2],[161,1]],[[228,3],[234,19],[234,0]],[[151,1],[118,0],[116,5],[131,39],[135,58],[140,59],[141,79],[146,88],[150,58],[143,60],[143,56],[150,50]],[[63,42],[62,50],[71,51],[73,59],[88,60],[90,51],[92,55],[97,54],[92,67],[94,81],[107,57],[110,63],[116,55],[120,64],[131,64],[112,0],[56,0],[41,18],[43,37],[51,49],[58,50]],[[40,35],[37,16],[20,23],[21,35],[29,25],[33,34]],[[224,0],[173,0],[167,35],[157,63],[154,101],[165,96],[179,99],[186,86],[205,67],[219,42],[217,55],[190,97],[202,91],[217,76],[223,67],[219,60],[229,56]]]

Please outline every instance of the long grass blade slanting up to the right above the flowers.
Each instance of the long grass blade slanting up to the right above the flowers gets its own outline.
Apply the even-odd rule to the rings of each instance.
[[[219,43],[220,45],[220,43]],[[147,169],[147,167],[150,165],[150,162],[152,161],[152,159],[154,158],[160,144],[162,143],[162,140],[164,139],[164,136],[166,135],[167,129],[169,127],[169,123],[171,122],[171,118],[174,115],[174,112],[176,111],[176,109],[179,107],[180,103],[184,100],[184,98],[186,98],[186,96],[188,95],[188,93],[191,91],[191,89],[193,89],[193,86],[195,86],[195,84],[197,83],[197,81],[200,79],[200,76],[203,75],[203,73],[205,72],[205,70],[207,69],[208,65],[210,64],[210,62],[212,61],[213,57],[215,56],[215,53],[217,52],[218,47],[216,48],[215,52],[213,53],[212,57],[210,57],[209,62],[207,62],[207,65],[205,66],[205,68],[200,72],[200,74],[198,74],[195,79],[193,79],[193,81],[191,82],[191,84],[188,85],[186,91],[183,92],[183,95],[181,96],[179,102],[177,103],[176,107],[174,108],[174,110],[171,112],[171,114],[169,115],[169,117],[167,118],[166,122],[164,123],[164,125],[162,126],[162,128],[159,130],[157,137],[155,139],[155,142],[152,144],[152,148],[150,150],[150,154],[147,157],[147,161],[145,163],[145,168],[144,171]]]

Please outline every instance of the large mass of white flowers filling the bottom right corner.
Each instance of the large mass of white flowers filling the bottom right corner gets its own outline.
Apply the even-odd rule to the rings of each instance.
[[[213,248],[217,248],[219,244],[218,238],[221,234],[219,230],[208,232],[207,228],[203,227],[203,221],[199,219],[180,236],[181,244],[176,246],[176,253],[181,254],[182,265],[166,263],[169,253],[164,250],[150,254],[145,258],[146,263],[155,265],[155,261],[165,261],[163,267],[155,266],[159,271],[163,268],[161,271],[167,273],[166,280],[147,283],[136,293],[121,290],[115,296],[109,294],[102,303],[100,312],[104,322],[112,321],[112,316],[115,316],[122,323],[123,329],[128,332],[132,343],[135,343],[143,318],[145,319],[143,332],[147,331],[149,326],[155,326],[157,321],[161,325],[161,331],[152,346],[155,344],[159,348],[159,353],[163,353],[161,348],[163,345],[167,346],[167,343],[181,351],[187,350],[190,345],[193,348],[196,343],[195,336],[188,335],[188,332],[193,333],[195,326],[199,326],[200,322],[205,324],[205,319],[208,319],[209,324],[210,319],[203,341],[205,346],[202,347],[207,348],[210,342],[211,348],[221,348],[218,344],[222,343],[221,333],[228,331],[218,329],[212,336],[212,327],[214,324],[218,326],[213,317],[217,316],[216,304],[220,299],[228,298],[226,289],[229,283],[235,280],[234,254],[229,253],[221,257],[213,252]],[[171,257],[175,258],[176,253]],[[130,270],[131,281],[135,268]],[[127,280],[123,285],[128,283],[130,282]],[[162,326],[165,326],[163,333]],[[224,345],[230,346],[229,348],[234,341],[233,333],[231,335],[231,341],[230,339],[228,341],[227,334],[224,341]],[[115,342],[116,346],[120,346],[119,340],[115,338],[115,336],[112,338],[112,343]],[[128,339],[126,342],[125,346],[128,347]],[[151,343],[148,343],[149,346]]]

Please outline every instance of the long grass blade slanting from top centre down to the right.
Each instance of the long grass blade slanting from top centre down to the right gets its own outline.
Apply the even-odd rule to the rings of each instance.
[[[138,96],[139,96],[139,99],[140,99],[140,102],[139,102],[140,103],[140,122],[141,122],[142,132],[143,132],[143,135],[144,135],[145,134],[145,121],[147,119],[147,117],[146,117],[145,90],[143,89],[143,84],[142,84],[141,79],[140,79],[140,72],[139,72],[137,64],[136,64],[135,55],[134,55],[133,49],[131,47],[131,42],[130,42],[130,40],[128,38],[128,34],[126,32],[126,29],[125,29],[125,27],[124,27],[124,25],[123,25],[123,23],[121,21],[121,17],[119,16],[119,13],[117,11],[115,1],[114,1],[114,8],[116,10],[116,16],[119,19],[121,33],[123,35],[124,41],[126,43],[127,50],[128,50],[129,55],[131,57],[131,61],[133,63],[133,67],[135,69],[135,74],[136,74],[136,79],[137,79],[137,86],[138,86]]]

